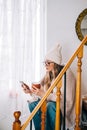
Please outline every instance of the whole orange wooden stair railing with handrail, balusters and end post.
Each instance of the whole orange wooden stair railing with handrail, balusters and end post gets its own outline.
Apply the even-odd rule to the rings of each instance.
[[[28,119],[25,121],[24,124],[21,125],[21,121],[19,120],[21,112],[16,111],[14,112],[15,121],[13,122],[12,130],[25,130],[28,124],[33,119],[36,112],[41,108],[42,111],[42,123],[41,123],[41,130],[45,130],[45,113],[46,113],[46,99],[51,93],[51,91],[54,89],[55,86],[57,86],[57,99],[56,99],[56,126],[55,130],[60,130],[60,88],[62,85],[62,77],[65,74],[65,72],[68,70],[72,62],[77,58],[77,79],[76,79],[76,105],[75,105],[75,127],[74,130],[81,130],[80,128],[80,106],[81,106],[81,67],[82,67],[82,58],[83,58],[83,52],[84,52],[84,45],[87,42],[87,36],[82,40],[79,47],[76,49],[74,54],[71,56],[67,64],[64,66],[62,71],[59,73],[57,78],[55,79],[54,83],[51,85],[51,87],[47,90],[44,97],[40,100],[38,105],[35,107],[35,109],[32,111],[32,113],[29,115]]]

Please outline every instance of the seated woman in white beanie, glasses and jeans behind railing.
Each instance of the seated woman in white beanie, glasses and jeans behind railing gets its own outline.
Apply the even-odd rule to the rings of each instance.
[[[34,85],[31,90],[24,89],[25,93],[38,95],[37,101],[29,103],[29,110],[32,112],[36,107],[40,99],[44,96],[47,89],[54,82],[55,78],[58,76],[63,68],[61,46],[57,45],[45,57],[45,68],[46,74],[40,81],[41,88],[38,89]],[[61,87],[61,122],[63,117],[64,108],[64,82],[62,82]],[[25,86],[22,84],[23,87]],[[71,70],[69,69],[66,73],[66,125],[67,127],[72,127],[75,121],[74,106],[75,106],[75,77]],[[55,130],[55,115],[56,115],[56,87],[53,89],[52,93],[47,98],[47,111],[46,111],[46,130]],[[41,130],[41,111],[39,110],[33,118],[35,130]]]

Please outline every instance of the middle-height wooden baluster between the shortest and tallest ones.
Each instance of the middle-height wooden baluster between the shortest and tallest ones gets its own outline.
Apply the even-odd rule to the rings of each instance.
[[[57,99],[56,99],[56,120],[55,120],[55,130],[60,130],[60,88],[62,86],[62,80],[57,84]]]

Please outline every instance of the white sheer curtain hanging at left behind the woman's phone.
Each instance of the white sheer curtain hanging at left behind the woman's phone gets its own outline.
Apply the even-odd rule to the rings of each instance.
[[[0,130],[15,110],[26,115],[19,81],[40,80],[45,52],[46,0],[0,0]]]

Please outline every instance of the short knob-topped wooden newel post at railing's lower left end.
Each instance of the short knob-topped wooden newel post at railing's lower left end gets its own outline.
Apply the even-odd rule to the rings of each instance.
[[[21,121],[19,120],[20,115],[20,111],[14,112],[15,121],[13,122],[13,130],[21,130]]]

